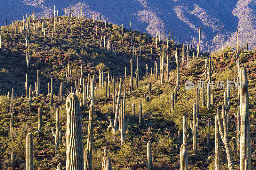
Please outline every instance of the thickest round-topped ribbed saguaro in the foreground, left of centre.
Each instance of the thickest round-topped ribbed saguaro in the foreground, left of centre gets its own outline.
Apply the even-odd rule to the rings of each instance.
[[[76,94],[71,93],[68,95],[66,100],[66,109],[66,169],[84,170],[82,122],[80,104]]]

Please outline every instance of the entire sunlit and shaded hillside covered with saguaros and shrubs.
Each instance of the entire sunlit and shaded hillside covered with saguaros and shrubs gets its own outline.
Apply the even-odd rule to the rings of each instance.
[[[34,12],[33,12],[34,13]],[[204,52],[73,8],[0,29],[0,169],[256,169],[256,47]]]

